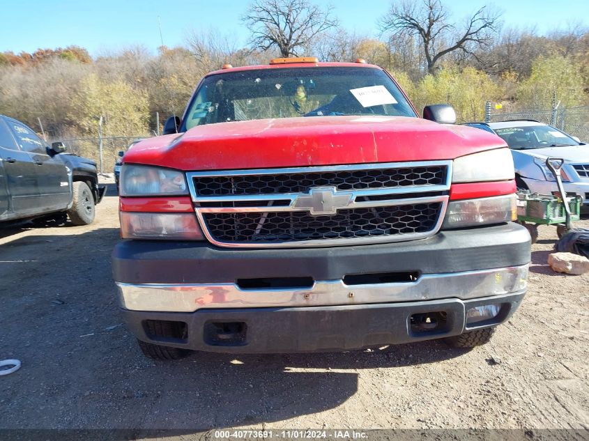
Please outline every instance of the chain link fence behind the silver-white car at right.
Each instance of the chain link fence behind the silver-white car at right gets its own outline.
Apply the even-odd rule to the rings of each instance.
[[[487,106],[489,109],[490,106]],[[553,109],[524,109],[517,112],[502,112],[493,110],[486,112],[485,121],[496,123],[512,119],[532,119],[540,123],[549,124],[581,141],[589,141],[589,106]]]

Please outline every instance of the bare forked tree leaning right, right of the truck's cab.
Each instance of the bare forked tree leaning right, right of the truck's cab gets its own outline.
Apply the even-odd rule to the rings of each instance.
[[[475,56],[475,49],[488,45],[500,29],[499,17],[500,13],[483,6],[459,27],[449,21],[448,10],[440,0],[399,0],[381,18],[380,27],[398,36],[416,36],[422,44],[427,72],[434,73],[443,56],[454,51]]]

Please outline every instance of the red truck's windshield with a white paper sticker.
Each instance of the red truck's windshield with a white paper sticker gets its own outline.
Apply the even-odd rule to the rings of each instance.
[[[399,88],[375,68],[282,68],[206,77],[185,115],[196,125],[337,115],[415,117]]]

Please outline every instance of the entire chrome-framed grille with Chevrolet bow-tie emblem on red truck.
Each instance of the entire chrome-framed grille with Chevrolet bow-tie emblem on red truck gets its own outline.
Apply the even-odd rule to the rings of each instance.
[[[451,161],[187,173],[204,234],[222,247],[313,247],[427,238]]]

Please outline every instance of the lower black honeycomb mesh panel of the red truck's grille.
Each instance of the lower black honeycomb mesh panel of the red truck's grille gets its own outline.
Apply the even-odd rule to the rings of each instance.
[[[209,233],[221,242],[300,242],[370,238],[431,231],[441,203],[341,210],[333,216],[304,212],[205,213]]]

